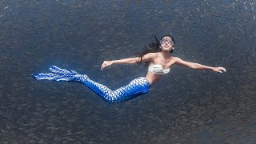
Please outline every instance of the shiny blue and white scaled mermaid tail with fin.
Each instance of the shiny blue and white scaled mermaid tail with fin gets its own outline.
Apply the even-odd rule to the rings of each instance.
[[[58,82],[80,82],[86,85],[95,94],[98,94],[103,100],[108,103],[125,102],[138,95],[146,94],[150,89],[150,84],[146,78],[140,77],[132,80],[128,85],[122,86],[117,90],[110,90],[108,87],[94,82],[85,74],[78,74],[74,70],[66,70],[57,66],[50,66],[52,73],[32,74],[31,76],[37,80],[52,80]]]

